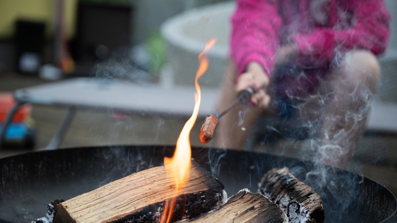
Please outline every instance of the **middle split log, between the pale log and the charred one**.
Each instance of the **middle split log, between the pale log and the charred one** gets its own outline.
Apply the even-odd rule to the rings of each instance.
[[[286,213],[261,193],[242,189],[220,208],[180,222],[288,222]]]

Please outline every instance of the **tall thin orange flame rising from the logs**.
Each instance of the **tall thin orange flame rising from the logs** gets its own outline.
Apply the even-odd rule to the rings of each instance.
[[[205,46],[202,53],[198,55],[198,61],[200,62],[200,66],[197,69],[196,76],[194,79],[194,86],[196,89],[196,93],[194,94],[194,109],[193,114],[187,120],[185,125],[182,128],[181,133],[179,134],[177,146],[175,148],[175,153],[172,158],[164,157],[164,167],[167,173],[175,184],[174,198],[171,199],[171,202],[166,200],[164,204],[164,211],[161,217],[161,222],[169,222],[172,217],[172,213],[174,211],[176,197],[178,191],[182,188],[183,183],[189,179],[189,171],[190,171],[190,161],[191,161],[191,147],[190,147],[190,131],[193,128],[193,125],[198,116],[198,109],[200,108],[201,103],[201,89],[200,85],[198,85],[198,78],[200,78],[208,69],[208,59],[205,56],[205,53],[208,49],[210,49],[216,42],[216,39],[211,39]]]

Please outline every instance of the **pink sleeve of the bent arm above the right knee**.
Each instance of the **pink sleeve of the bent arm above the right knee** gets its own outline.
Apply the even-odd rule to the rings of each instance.
[[[389,37],[390,14],[381,0],[354,0],[350,3],[355,23],[344,30],[321,27],[308,35],[295,35],[298,54],[318,61],[335,57],[343,50],[368,49],[374,54],[385,51]]]

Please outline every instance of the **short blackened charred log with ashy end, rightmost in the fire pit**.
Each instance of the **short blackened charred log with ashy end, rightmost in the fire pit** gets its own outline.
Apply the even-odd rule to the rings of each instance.
[[[288,168],[270,170],[259,187],[260,192],[284,209],[290,222],[324,222],[320,195],[299,181]]]

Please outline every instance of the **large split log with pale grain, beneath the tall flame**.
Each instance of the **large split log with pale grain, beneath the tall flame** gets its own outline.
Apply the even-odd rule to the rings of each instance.
[[[56,206],[53,222],[159,222],[165,202],[176,197],[172,221],[218,207],[224,185],[192,160],[189,180],[175,193],[158,166],[116,180]]]

